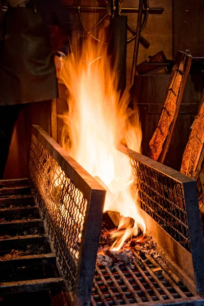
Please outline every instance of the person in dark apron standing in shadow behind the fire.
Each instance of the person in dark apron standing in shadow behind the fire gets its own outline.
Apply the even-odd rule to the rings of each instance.
[[[37,117],[45,112],[42,115],[46,123],[50,117],[50,100],[58,96],[55,63],[59,70],[61,58],[68,52],[68,44],[57,53],[54,61],[48,38],[49,24],[59,24],[68,36],[76,28],[73,17],[60,0],[8,2],[8,11],[4,17],[4,46],[0,55],[0,179],[3,178],[19,111],[22,108],[30,109],[35,103]],[[32,113],[31,109],[28,113]],[[29,151],[31,123],[38,122],[31,122],[29,116],[25,121],[25,141]],[[45,130],[49,132],[48,127]],[[28,167],[28,157],[25,160],[24,166]]]

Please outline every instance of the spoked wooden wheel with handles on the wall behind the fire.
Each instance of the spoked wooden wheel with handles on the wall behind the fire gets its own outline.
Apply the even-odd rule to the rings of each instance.
[[[107,17],[111,18],[114,17],[116,15],[121,15],[122,13],[138,13],[139,12],[139,8],[126,8],[126,7],[122,7],[122,2],[123,0],[104,0],[104,6],[99,6],[99,7],[83,7],[81,6],[81,0],[78,0],[78,5],[76,7],[77,11],[78,11],[78,16],[80,19],[80,22],[84,28],[84,30],[87,33],[87,36],[90,36],[91,38],[93,38],[96,41],[99,42],[103,42],[105,44],[107,44],[106,41],[101,41],[98,37],[94,36],[92,34],[93,30],[95,30],[99,24],[101,24]],[[82,18],[81,13],[85,13],[85,12],[101,12],[104,11],[105,14],[103,17],[101,17],[94,25],[93,27],[88,30],[84,20]],[[143,20],[141,23],[141,31],[144,29],[145,24],[147,22],[148,19],[148,15],[149,14],[162,14],[164,11],[163,8],[150,8],[149,7],[149,2],[148,0],[144,0],[143,1]],[[127,39],[127,43],[130,43],[131,41],[133,41],[136,37],[136,30],[134,29],[134,27],[132,26],[132,24],[130,22],[127,22],[127,30],[131,32],[132,36]],[[145,47],[148,48],[149,47],[149,43],[146,39],[144,39],[141,35],[140,35],[140,43]]]

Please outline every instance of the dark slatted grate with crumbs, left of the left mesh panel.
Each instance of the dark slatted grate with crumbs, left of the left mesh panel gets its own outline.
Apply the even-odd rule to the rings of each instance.
[[[50,305],[64,285],[27,180],[0,181],[0,271],[0,305]]]

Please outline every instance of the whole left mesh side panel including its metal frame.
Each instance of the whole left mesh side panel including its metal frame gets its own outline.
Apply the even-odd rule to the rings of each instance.
[[[40,127],[29,181],[67,281],[71,303],[90,302],[106,191]]]

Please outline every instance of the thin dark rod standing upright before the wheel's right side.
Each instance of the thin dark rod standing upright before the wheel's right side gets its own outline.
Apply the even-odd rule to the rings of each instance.
[[[135,38],[135,47],[134,47],[134,54],[133,54],[133,65],[132,65],[132,72],[131,72],[131,85],[134,83],[136,65],[137,65],[137,57],[138,57],[138,50],[139,50],[139,38],[140,38],[140,29],[142,24],[142,9],[143,9],[143,0],[139,1],[139,12],[137,18],[137,29],[136,29],[136,38]]]

